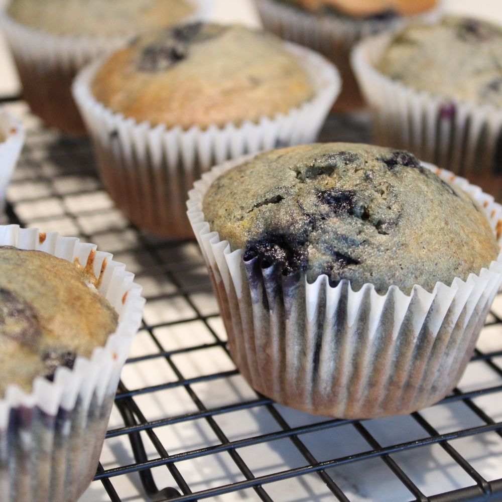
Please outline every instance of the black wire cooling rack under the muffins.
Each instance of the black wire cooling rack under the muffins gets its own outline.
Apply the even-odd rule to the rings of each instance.
[[[9,220],[97,243],[148,299],[81,502],[502,500],[502,295],[458,388],[436,406],[361,422],[280,406],[236,370],[196,243],[131,226],[86,140],[9,106],[28,129]],[[322,139],[367,141],[367,116],[331,118]]]

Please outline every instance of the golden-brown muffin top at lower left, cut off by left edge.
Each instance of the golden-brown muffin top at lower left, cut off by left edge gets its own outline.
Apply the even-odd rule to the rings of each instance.
[[[96,278],[40,251],[0,246],[0,397],[17,384],[89,357],[115,331],[117,314]]]

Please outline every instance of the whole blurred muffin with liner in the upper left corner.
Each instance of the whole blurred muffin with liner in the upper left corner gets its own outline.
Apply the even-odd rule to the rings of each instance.
[[[50,127],[85,134],[71,95],[78,70],[140,32],[200,15],[199,0],[12,0],[0,23],[31,110]]]

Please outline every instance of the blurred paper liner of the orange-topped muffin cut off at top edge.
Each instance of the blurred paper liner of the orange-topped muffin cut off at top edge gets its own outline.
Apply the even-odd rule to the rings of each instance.
[[[426,13],[390,19],[351,19],[335,14],[314,14],[281,0],[256,0],[264,27],[291,42],[310,47],[333,61],[340,70],[343,87],[334,109],[360,108],[364,100],[349,64],[350,49],[361,38],[388,31],[416,19],[433,21],[441,16],[442,2]]]

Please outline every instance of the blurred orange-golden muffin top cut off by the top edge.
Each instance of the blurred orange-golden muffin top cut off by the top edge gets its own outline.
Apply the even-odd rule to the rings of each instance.
[[[411,16],[428,11],[437,0],[283,0],[312,12],[335,12],[355,18],[381,15]]]

